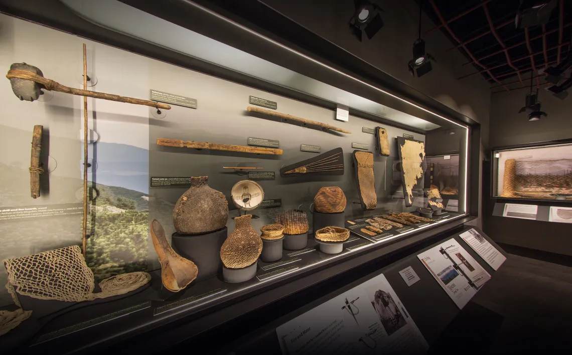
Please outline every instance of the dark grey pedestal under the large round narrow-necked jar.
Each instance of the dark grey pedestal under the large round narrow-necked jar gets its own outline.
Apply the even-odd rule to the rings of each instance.
[[[173,250],[197,265],[198,274],[194,282],[215,277],[223,270],[220,248],[227,239],[227,235],[227,227],[194,236],[173,233],[171,237]]]

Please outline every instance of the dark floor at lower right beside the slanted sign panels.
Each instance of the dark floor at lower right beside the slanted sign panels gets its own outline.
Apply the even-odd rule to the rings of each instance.
[[[571,300],[572,267],[510,254],[430,353],[454,338],[463,353],[569,352]]]

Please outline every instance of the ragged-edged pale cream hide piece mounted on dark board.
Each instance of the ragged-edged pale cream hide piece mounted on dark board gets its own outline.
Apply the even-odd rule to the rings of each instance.
[[[425,158],[425,143],[398,137],[399,158],[402,161],[402,184],[405,205],[413,204],[413,188],[423,177],[423,160]]]

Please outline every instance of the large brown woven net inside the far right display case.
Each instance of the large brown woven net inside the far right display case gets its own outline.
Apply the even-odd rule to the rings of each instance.
[[[502,197],[550,197],[572,193],[572,159],[507,159]]]

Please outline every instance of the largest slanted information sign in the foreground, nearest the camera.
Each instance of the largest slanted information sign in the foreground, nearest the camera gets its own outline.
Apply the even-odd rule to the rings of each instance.
[[[423,354],[428,344],[381,274],[276,328],[283,354]]]

